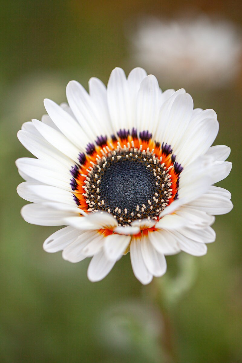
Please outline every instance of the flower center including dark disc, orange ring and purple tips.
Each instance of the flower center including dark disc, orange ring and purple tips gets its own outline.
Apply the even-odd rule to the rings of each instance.
[[[147,131],[139,137],[120,132],[112,140],[98,138],[97,146],[88,144],[86,154],[79,154],[80,166],[70,170],[75,203],[87,213],[110,213],[120,226],[158,220],[177,198],[182,166],[171,146],[160,145]]]

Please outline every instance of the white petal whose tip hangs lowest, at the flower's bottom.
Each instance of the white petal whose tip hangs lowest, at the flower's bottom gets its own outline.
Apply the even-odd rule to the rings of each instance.
[[[145,266],[144,259],[140,248],[140,239],[132,238],[130,244],[130,259],[134,275],[143,284],[151,282],[153,276]]]

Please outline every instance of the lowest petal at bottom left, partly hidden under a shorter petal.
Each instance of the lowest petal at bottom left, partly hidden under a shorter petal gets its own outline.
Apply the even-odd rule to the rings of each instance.
[[[87,277],[90,281],[100,281],[111,271],[115,260],[108,260],[104,252],[101,251],[93,256],[87,270]]]

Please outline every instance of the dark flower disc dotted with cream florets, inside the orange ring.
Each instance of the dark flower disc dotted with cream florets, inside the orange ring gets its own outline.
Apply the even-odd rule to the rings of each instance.
[[[171,198],[170,168],[149,151],[112,151],[89,173],[89,211],[111,213],[120,225],[137,219],[157,219]]]

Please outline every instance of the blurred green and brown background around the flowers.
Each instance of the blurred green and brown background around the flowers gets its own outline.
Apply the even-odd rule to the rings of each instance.
[[[185,85],[196,107],[216,110],[216,144],[231,147],[233,169],[219,185],[231,191],[234,209],[216,218],[206,256],[169,256],[168,273],[148,286],[134,277],[129,255],[91,283],[89,261],[71,264],[44,252],[57,228],[22,220],[26,202],[16,193],[22,179],[14,163],[30,156],[16,133],[45,113],[44,98],[61,103],[71,79],[87,87],[92,76],[107,83],[115,66],[128,74],[141,65],[128,35],[137,19],[195,11],[239,28],[241,10],[237,0],[2,0],[0,362],[242,362],[242,72],[216,89]],[[159,83],[177,87],[172,79]]]

